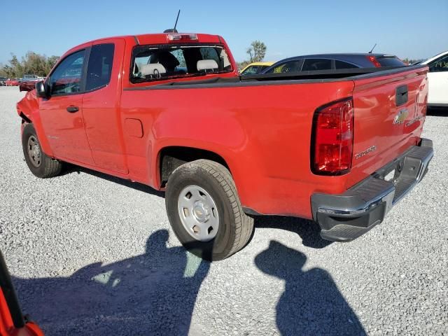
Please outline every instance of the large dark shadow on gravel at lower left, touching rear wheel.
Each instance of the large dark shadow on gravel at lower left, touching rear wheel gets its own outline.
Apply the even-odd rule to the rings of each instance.
[[[22,308],[45,335],[188,335],[210,264],[167,239],[157,231],[143,255],[67,278],[13,278]]]

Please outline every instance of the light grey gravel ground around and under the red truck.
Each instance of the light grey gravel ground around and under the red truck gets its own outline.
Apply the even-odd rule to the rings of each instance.
[[[379,225],[328,244],[297,218],[255,221],[221,262],[186,253],[163,194],[69,167],[36,179],[18,87],[0,87],[0,248],[47,335],[448,335],[448,111],[430,170]]]

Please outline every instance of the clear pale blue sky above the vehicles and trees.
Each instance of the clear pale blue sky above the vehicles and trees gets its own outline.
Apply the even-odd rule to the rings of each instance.
[[[448,0],[420,1],[38,1],[2,0],[0,63],[13,52],[62,55],[95,38],[178,30],[219,34],[237,62],[254,40],[265,60],[326,52],[426,59],[448,50]]]

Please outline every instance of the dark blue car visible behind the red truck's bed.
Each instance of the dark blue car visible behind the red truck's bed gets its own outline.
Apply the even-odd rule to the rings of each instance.
[[[262,73],[288,73],[406,65],[398,57],[386,54],[317,54],[282,59],[272,64],[272,66],[269,66]]]

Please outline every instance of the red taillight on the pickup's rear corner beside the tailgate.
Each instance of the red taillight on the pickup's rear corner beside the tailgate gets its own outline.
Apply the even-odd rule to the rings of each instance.
[[[314,113],[311,171],[342,175],[351,169],[353,156],[353,99],[323,106]]]

